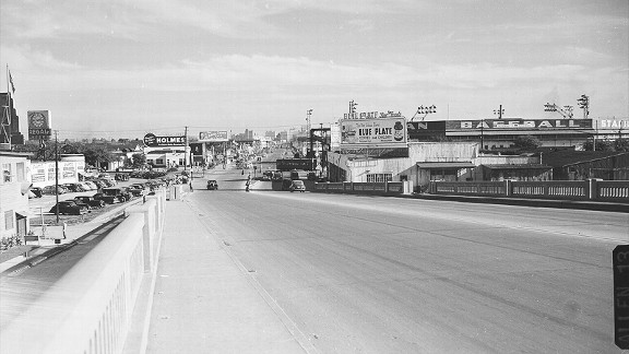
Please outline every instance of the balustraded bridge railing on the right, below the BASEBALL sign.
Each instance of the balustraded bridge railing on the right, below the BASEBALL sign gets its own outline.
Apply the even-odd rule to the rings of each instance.
[[[429,193],[629,203],[629,180],[434,181]]]

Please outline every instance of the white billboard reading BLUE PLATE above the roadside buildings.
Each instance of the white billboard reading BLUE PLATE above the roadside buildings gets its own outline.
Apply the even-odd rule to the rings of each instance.
[[[387,148],[406,143],[406,119],[342,119],[341,146]]]

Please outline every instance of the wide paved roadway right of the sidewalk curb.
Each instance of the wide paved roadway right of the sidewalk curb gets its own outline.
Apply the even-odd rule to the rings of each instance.
[[[246,193],[239,175],[195,179],[188,199],[321,353],[618,352],[610,255],[628,214]]]

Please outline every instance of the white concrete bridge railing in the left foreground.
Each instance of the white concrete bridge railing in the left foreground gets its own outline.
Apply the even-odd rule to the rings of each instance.
[[[0,353],[120,353],[156,264],[166,193],[158,191],[0,333]]]

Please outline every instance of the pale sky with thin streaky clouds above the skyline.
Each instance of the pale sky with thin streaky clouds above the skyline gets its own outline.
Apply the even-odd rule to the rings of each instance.
[[[436,105],[428,120],[629,116],[627,0],[14,0],[5,66],[61,135],[282,130]],[[575,107],[575,116],[581,111]],[[25,130],[25,129],[24,129]]]

